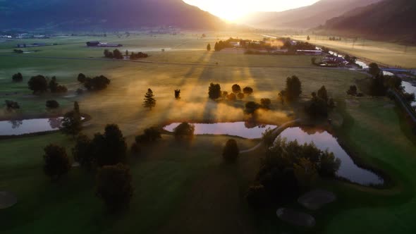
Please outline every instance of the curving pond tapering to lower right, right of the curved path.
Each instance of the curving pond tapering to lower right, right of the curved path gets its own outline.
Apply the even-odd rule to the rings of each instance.
[[[346,178],[360,185],[382,185],[384,183],[384,180],[372,171],[355,165],[353,159],[338,144],[336,137],[326,131],[310,130],[306,132],[302,128],[287,128],[280,136],[288,141],[298,140],[300,144],[314,142],[318,149],[328,149],[329,152],[333,152],[338,159],[341,159],[341,166],[337,173],[341,178]]]

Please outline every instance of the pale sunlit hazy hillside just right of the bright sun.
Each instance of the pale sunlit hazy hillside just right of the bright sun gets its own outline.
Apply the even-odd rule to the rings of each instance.
[[[307,29],[323,25],[326,20],[377,1],[379,0],[321,0],[311,6],[288,11],[253,13],[245,17],[241,23],[262,28]]]

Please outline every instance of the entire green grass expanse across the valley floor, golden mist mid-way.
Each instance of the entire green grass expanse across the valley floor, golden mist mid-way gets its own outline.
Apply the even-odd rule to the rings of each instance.
[[[242,154],[236,165],[226,165],[221,149],[229,137],[204,135],[195,137],[191,144],[178,144],[171,135],[163,135],[163,140],[149,146],[142,156],[129,156],[135,194],[128,211],[111,215],[94,196],[94,173],[73,168],[58,183],[44,176],[42,149],[52,142],[65,146],[68,153],[73,147],[71,137],[52,133],[0,140],[0,190],[12,191],[18,197],[16,206],[0,211],[0,233],[415,232],[415,136],[389,99],[345,100],[348,87],[356,79],[365,78],[365,74],[317,68],[311,65],[310,56],[207,52],[207,43],[214,44],[217,38],[261,38],[228,32],[207,35],[204,39],[192,33],[105,39],[124,44],[123,50],[147,51],[150,57],[140,61],[149,63],[102,59],[104,49],[85,47],[85,41],[103,38],[47,39],[59,45],[18,55],[11,52],[14,44],[39,41],[0,43],[0,103],[11,99],[21,106],[16,113],[1,109],[0,120],[51,115],[44,107],[49,99],[59,101],[60,113],[68,111],[73,101],[79,101],[81,111],[92,116],[84,133],[92,135],[107,123],[116,123],[130,144],[135,135],[152,125],[246,121],[250,118],[243,113],[246,101],[270,98],[271,110],[260,112],[258,121],[281,125],[302,113],[300,106],[282,106],[277,100],[286,78],[297,75],[302,81],[302,97],[309,97],[325,85],[329,96],[336,98],[336,137],[365,164],[389,175],[389,187],[319,181],[319,187],[336,192],[338,201],[313,213],[317,218],[315,228],[293,228],[281,223],[275,210],[256,214],[245,202],[245,191],[255,180],[262,149]],[[162,48],[166,51],[161,52]],[[23,73],[24,82],[11,82],[11,75],[17,72]],[[106,75],[111,84],[106,90],[78,97],[38,97],[27,90],[30,76],[56,75],[58,82],[73,94],[81,87],[76,80],[78,73]],[[212,101],[207,97],[210,82],[219,82],[221,90],[228,92],[235,83],[250,86],[255,92],[239,101]],[[147,88],[152,88],[157,99],[152,111],[142,107]],[[180,100],[174,99],[176,89],[181,89]],[[240,149],[259,142],[234,138]]]

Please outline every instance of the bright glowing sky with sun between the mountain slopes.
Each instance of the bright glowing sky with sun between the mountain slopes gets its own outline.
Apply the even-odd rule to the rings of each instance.
[[[235,20],[253,11],[284,11],[290,8],[307,6],[319,0],[183,0],[198,6],[204,11]]]

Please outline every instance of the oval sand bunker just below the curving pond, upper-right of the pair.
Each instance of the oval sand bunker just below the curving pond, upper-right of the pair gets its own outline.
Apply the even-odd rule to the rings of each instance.
[[[298,202],[307,209],[317,210],[323,207],[325,204],[329,204],[336,200],[336,195],[333,192],[325,190],[313,190],[307,192],[298,199]]]

